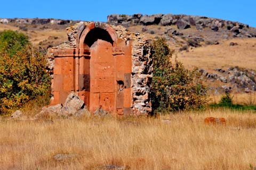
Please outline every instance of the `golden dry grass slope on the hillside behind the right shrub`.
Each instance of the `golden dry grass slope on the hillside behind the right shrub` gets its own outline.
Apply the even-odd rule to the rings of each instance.
[[[229,46],[230,42],[238,46]],[[256,70],[256,38],[235,38],[221,41],[219,45],[194,48],[189,52],[177,53],[179,61],[188,69],[194,67],[213,70],[238,66]]]

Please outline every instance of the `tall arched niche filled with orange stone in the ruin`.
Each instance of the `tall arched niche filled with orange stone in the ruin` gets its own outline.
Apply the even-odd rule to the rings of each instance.
[[[92,112],[114,112],[116,39],[115,30],[101,22],[86,26],[79,38],[79,95]]]

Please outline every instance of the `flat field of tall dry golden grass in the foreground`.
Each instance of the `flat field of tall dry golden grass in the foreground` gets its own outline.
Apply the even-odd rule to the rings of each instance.
[[[205,125],[209,116],[225,117],[227,125]],[[0,167],[102,169],[97,167],[115,164],[130,169],[250,169],[250,164],[256,166],[255,139],[255,112],[225,109],[158,118],[2,119]],[[54,160],[58,153],[78,157]]]

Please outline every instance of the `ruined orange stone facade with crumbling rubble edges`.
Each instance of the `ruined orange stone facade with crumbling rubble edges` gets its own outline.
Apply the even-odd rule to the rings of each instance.
[[[86,107],[114,115],[151,112],[151,47],[143,35],[103,22],[79,22],[67,28],[69,44],[49,49],[51,104],[77,93]]]

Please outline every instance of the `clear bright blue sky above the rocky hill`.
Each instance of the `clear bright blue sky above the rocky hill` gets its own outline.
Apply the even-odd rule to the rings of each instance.
[[[0,18],[107,21],[109,14],[190,14],[256,27],[256,0],[1,0]]]

